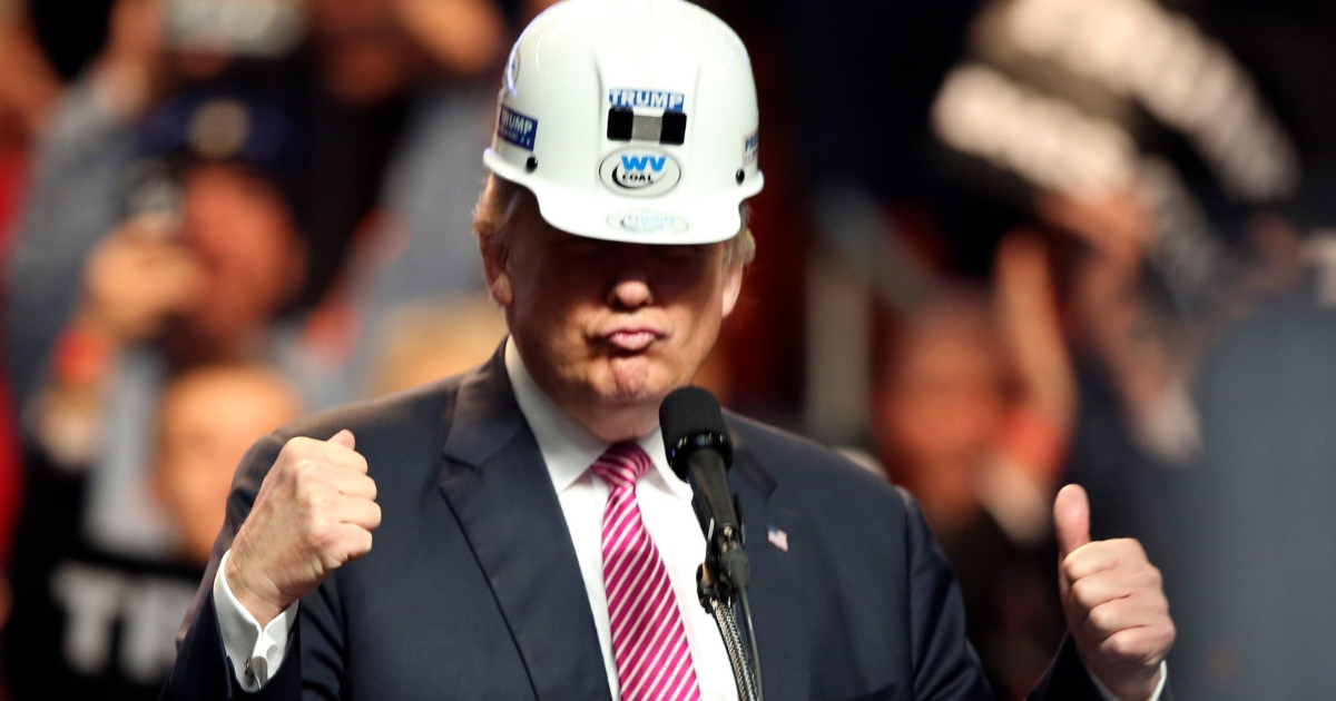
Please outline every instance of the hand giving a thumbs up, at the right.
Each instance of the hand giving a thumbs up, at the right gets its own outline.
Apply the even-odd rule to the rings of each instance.
[[[1145,701],[1174,640],[1164,582],[1132,538],[1090,542],[1090,502],[1067,485],[1053,505],[1058,586],[1086,669],[1122,701]]]

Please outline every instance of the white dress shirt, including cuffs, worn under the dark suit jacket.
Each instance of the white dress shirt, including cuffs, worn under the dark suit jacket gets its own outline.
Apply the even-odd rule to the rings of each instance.
[[[593,612],[595,629],[599,632],[599,646],[603,649],[603,662],[608,672],[608,688],[612,690],[612,698],[620,698],[621,685],[612,649],[608,594],[603,585],[603,511],[608,502],[608,483],[589,470],[609,443],[592,435],[552,403],[524,367],[513,340],[506,342],[505,369],[514,389],[516,402],[538,441],[542,461],[548,465],[548,475],[561,502],[561,511],[574,543],[576,559],[580,561],[580,574],[584,577],[589,609]],[[636,501],[645,529],[659,547],[659,554],[668,569],[668,579],[677,596],[677,610],[687,630],[687,644],[691,646],[701,698],[737,701],[737,686],[723,638],[719,636],[715,620],[701,609],[696,597],[696,567],[705,555],[705,537],[691,507],[691,487],[677,479],[668,467],[663,434],[659,429],[637,442],[649,454],[655,469],[645,473],[636,485]],[[226,563],[227,554],[223,555],[218,575],[214,578],[214,606],[218,609],[223,648],[232,661],[236,680],[243,689],[254,692],[263,686],[283,662],[287,633],[297,621],[297,604],[261,629],[227,586],[227,577],[223,574]],[[1164,678],[1162,674],[1160,689],[1150,701],[1158,701]],[[1096,685],[1108,701],[1118,701],[1098,681]]]

